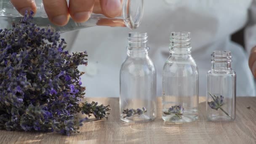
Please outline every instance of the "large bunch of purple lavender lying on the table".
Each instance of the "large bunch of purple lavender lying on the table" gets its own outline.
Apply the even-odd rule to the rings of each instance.
[[[60,33],[37,27],[32,14],[0,30],[0,129],[76,133],[87,119],[78,120],[78,112],[101,119],[109,105],[80,102],[77,67],[87,65],[86,51],[64,51]]]

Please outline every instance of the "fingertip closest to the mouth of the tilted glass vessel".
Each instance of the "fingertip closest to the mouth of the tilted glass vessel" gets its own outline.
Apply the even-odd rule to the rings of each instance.
[[[122,0],[100,0],[101,10],[107,17],[120,16],[122,12]]]

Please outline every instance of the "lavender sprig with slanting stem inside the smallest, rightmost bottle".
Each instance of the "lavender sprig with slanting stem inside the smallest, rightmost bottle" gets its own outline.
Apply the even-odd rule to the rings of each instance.
[[[221,108],[221,106],[224,105],[224,101],[223,101],[224,96],[219,97],[216,95],[213,96],[211,93],[209,93],[209,94],[213,99],[213,101],[211,101],[211,102],[208,101],[209,107],[211,107],[212,109],[215,109],[215,110],[221,109],[222,112],[224,112],[227,116],[231,117],[226,111],[224,111],[224,109]]]

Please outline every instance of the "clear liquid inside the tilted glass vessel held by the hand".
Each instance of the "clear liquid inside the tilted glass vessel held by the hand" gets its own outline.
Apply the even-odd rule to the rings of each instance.
[[[0,28],[11,28],[11,24],[18,23],[22,18],[22,16],[0,16]],[[33,18],[33,23],[37,24],[38,27],[48,27],[48,25],[51,25],[51,27],[61,33],[94,26],[126,27],[123,19],[102,18],[100,14],[94,14],[88,21],[83,23],[77,23],[69,19],[68,24],[63,27],[52,24],[47,17],[35,17]]]

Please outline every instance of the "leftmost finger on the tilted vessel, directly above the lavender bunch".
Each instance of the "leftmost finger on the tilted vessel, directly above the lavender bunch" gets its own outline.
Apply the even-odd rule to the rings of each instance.
[[[34,0],[11,0],[11,3],[22,15],[25,14],[25,11],[28,11],[28,13],[30,13],[30,11],[36,13],[36,5]]]

